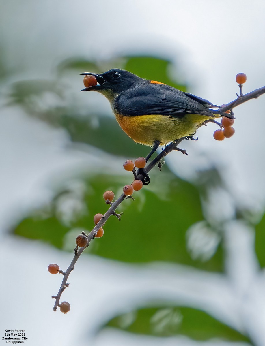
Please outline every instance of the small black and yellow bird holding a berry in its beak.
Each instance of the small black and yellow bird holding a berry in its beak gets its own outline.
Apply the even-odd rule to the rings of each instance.
[[[160,145],[181,138],[195,139],[196,130],[206,120],[218,117],[235,119],[231,114],[211,109],[219,106],[208,100],[126,70],[80,74],[96,78],[96,85],[80,91],[93,90],[104,95],[123,131],[134,142],[152,147],[147,161]]]

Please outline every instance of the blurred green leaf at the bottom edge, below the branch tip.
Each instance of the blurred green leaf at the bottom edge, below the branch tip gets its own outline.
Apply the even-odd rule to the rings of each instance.
[[[206,312],[187,307],[143,308],[117,316],[110,320],[107,326],[160,337],[185,335],[200,341],[221,338],[250,342],[247,336]]]

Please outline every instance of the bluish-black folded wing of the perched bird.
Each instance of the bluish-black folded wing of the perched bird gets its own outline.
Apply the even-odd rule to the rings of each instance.
[[[119,114],[167,115],[182,117],[185,114],[201,114],[214,117],[213,114],[225,115],[216,110],[209,110],[214,105],[192,94],[184,93],[169,85],[146,83],[136,84],[125,90],[116,99],[114,108]]]

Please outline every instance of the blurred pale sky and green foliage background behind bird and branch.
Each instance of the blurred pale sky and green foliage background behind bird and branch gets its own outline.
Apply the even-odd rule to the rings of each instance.
[[[265,344],[265,98],[235,108],[170,153],[91,242],[53,312],[75,239],[132,181],[149,148],[81,72],[129,70],[214,104],[264,85],[263,1],[1,1],[1,331],[26,345]],[[1,334],[1,336],[2,336]]]

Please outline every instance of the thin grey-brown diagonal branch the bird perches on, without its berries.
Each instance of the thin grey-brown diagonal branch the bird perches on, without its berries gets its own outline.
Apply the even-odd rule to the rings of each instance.
[[[256,99],[258,98],[260,95],[265,93],[265,86],[263,86],[262,88],[256,89],[254,91],[249,92],[248,94],[245,95],[240,95],[236,100],[231,101],[229,103],[227,103],[226,105],[222,106],[219,108],[219,110],[225,112],[227,110],[232,110],[234,107],[239,106],[239,104],[244,103],[246,101],[249,101],[251,99]],[[211,120],[208,120],[211,121]],[[205,121],[207,122],[207,121]],[[168,155],[171,151],[173,150],[179,150],[182,151],[181,149],[179,149],[177,146],[179,145],[179,143],[181,143],[183,141],[183,139],[186,139],[187,137],[183,137],[180,138],[178,140],[176,140],[175,142],[172,142],[170,144],[168,144],[165,149],[163,149],[161,151],[160,154],[158,154],[146,167],[145,167],[145,172],[148,173],[151,171],[151,169],[153,169],[154,166],[156,166],[157,164],[160,164],[160,161],[162,160],[162,158],[164,158],[166,155]],[[182,151],[184,154],[186,154],[185,151]],[[160,164],[161,167],[161,164]],[[139,179],[141,181],[143,181],[143,174],[141,173],[141,171],[138,170],[138,172],[136,173],[135,179]],[[89,246],[89,243],[91,242],[92,239],[94,239],[94,237],[97,234],[97,231],[99,230],[100,227],[102,227],[106,220],[111,216],[111,215],[115,215],[119,220],[120,220],[120,216],[121,214],[117,214],[116,213],[116,209],[117,207],[121,204],[121,202],[125,199],[125,198],[129,198],[130,196],[126,196],[125,194],[122,194],[119,198],[116,199],[115,202],[110,202],[110,201],[106,201],[106,204],[111,204],[111,207],[107,210],[107,212],[105,213],[105,215],[103,215],[101,217],[101,220],[97,223],[97,225],[91,230],[91,232],[87,235],[87,245],[80,247],[79,250],[75,251],[75,255],[74,258],[72,260],[72,262],[70,263],[68,269],[66,272],[63,272],[60,270],[60,273],[63,274],[63,281],[61,284],[61,287],[59,289],[59,292],[57,293],[57,295],[53,295],[52,298],[55,298],[55,304],[53,307],[53,310],[56,311],[57,307],[60,306],[59,302],[60,302],[60,298],[62,295],[62,292],[65,290],[65,288],[67,288],[69,286],[69,284],[67,283],[67,279],[71,273],[71,271],[74,269],[74,265],[76,264],[78,258],[80,257],[80,255],[82,254],[82,252],[86,249],[86,247]]]

